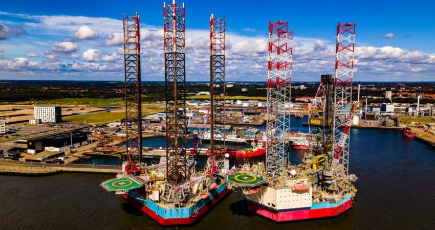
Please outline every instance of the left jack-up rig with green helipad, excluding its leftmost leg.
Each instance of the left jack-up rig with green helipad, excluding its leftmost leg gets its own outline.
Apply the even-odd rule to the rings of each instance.
[[[134,165],[131,167],[134,170],[103,181],[101,186],[120,194],[161,225],[185,225],[199,219],[231,191],[227,189],[225,181],[229,163],[224,157],[225,146],[221,142],[212,142],[212,156],[208,157],[207,167],[203,170],[194,167],[194,158],[186,151],[184,4],[178,5],[175,0],[172,4],[164,4],[163,14],[166,157],[161,158],[160,164],[153,166],[130,163]],[[129,36],[133,36],[139,49],[139,17],[136,17],[137,31]],[[210,98],[213,102],[210,117],[214,120],[211,127],[216,140],[223,139],[224,132],[225,18],[210,18],[210,43],[210,89],[214,92]],[[139,60],[140,52],[136,54]],[[140,62],[137,66],[140,66]],[[193,164],[190,164],[192,160]]]

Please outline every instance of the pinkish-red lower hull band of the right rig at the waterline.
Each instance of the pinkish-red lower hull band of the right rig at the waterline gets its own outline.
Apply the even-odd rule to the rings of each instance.
[[[352,208],[354,202],[355,201],[351,199],[335,208],[298,210],[298,211],[288,211],[288,212],[279,212],[279,213],[274,213],[254,203],[248,202],[248,209],[253,213],[264,216],[276,222],[286,222],[292,220],[305,220],[305,219],[338,216],[344,211]]]

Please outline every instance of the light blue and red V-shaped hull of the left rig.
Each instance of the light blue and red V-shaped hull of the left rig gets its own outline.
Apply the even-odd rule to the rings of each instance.
[[[173,209],[164,208],[151,199],[138,197],[135,193],[125,193],[121,196],[160,225],[179,226],[193,224],[207,213],[207,211],[223,200],[230,192],[231,190],[227,188],[226,183],[223,183],[213,191],[210,191],[208,197],[192,203],[189,206]]]

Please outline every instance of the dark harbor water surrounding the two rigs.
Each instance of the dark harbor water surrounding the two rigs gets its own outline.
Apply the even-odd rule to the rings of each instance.
[[[303,121],[292,119],[292,130],[306,132]],[[291,149],[290,162],[300,163],[305,151]],[[338,217],[276,224],[252,215],[240,192],[232,192],[186,229],[433,229],[432,147],[396,130],[352,129],[350,171],[359,177],[356,203]],[[0,229],[161,229],[123,198],[99,187],[112,177],[0,175]]]

